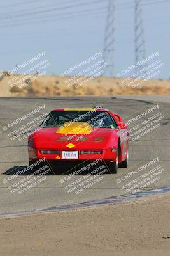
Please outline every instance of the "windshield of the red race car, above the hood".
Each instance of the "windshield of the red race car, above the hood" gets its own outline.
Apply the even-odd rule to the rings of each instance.
[[[52,111],[39,127],[60,127],[66,122],[87,122],[92,127],[99,128],[117,127],[107,111]]]

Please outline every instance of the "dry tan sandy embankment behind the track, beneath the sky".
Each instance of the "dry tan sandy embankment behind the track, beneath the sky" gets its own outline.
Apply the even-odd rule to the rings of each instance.
[[[41,76],[31,77],[27,84],[24,75],[0,78],[0,97],[12,96],[71,96],[71,95],[143,95],[169,94],[169,79],[138,81],[116,77]],[[73,78],[73,80],[72,80]],[[139,83],[140,82],[140,83]],[[138,85],[139,83],[139,85]],[[16,85],[17,84],[17,85]]]

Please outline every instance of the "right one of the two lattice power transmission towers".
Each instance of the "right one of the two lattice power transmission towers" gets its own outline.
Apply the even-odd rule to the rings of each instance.
[[[144,31],[143,31],[143,17],[142,17],[142,4],[141,0],[135,1],[135,29],[134,29],[134,42],[135,42],[135,61],[136,65],[139,61],[145,59],[145,40],[144,40]],[[136,73],[140,72],[143,68],[146,67],[146,64],[138,65],[136,67]],[[139,73],[140,74],[140,73]],[[138,77],[139,75],[136,75]]]

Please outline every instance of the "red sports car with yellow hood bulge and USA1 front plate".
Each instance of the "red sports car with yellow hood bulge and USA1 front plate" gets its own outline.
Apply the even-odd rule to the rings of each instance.
[[[86,161],[101,158],[111,173],[127,167],[128,131],[118,114],[103,108],[65,108],[50,112],[29,136],[29,164],[45,158]]]

